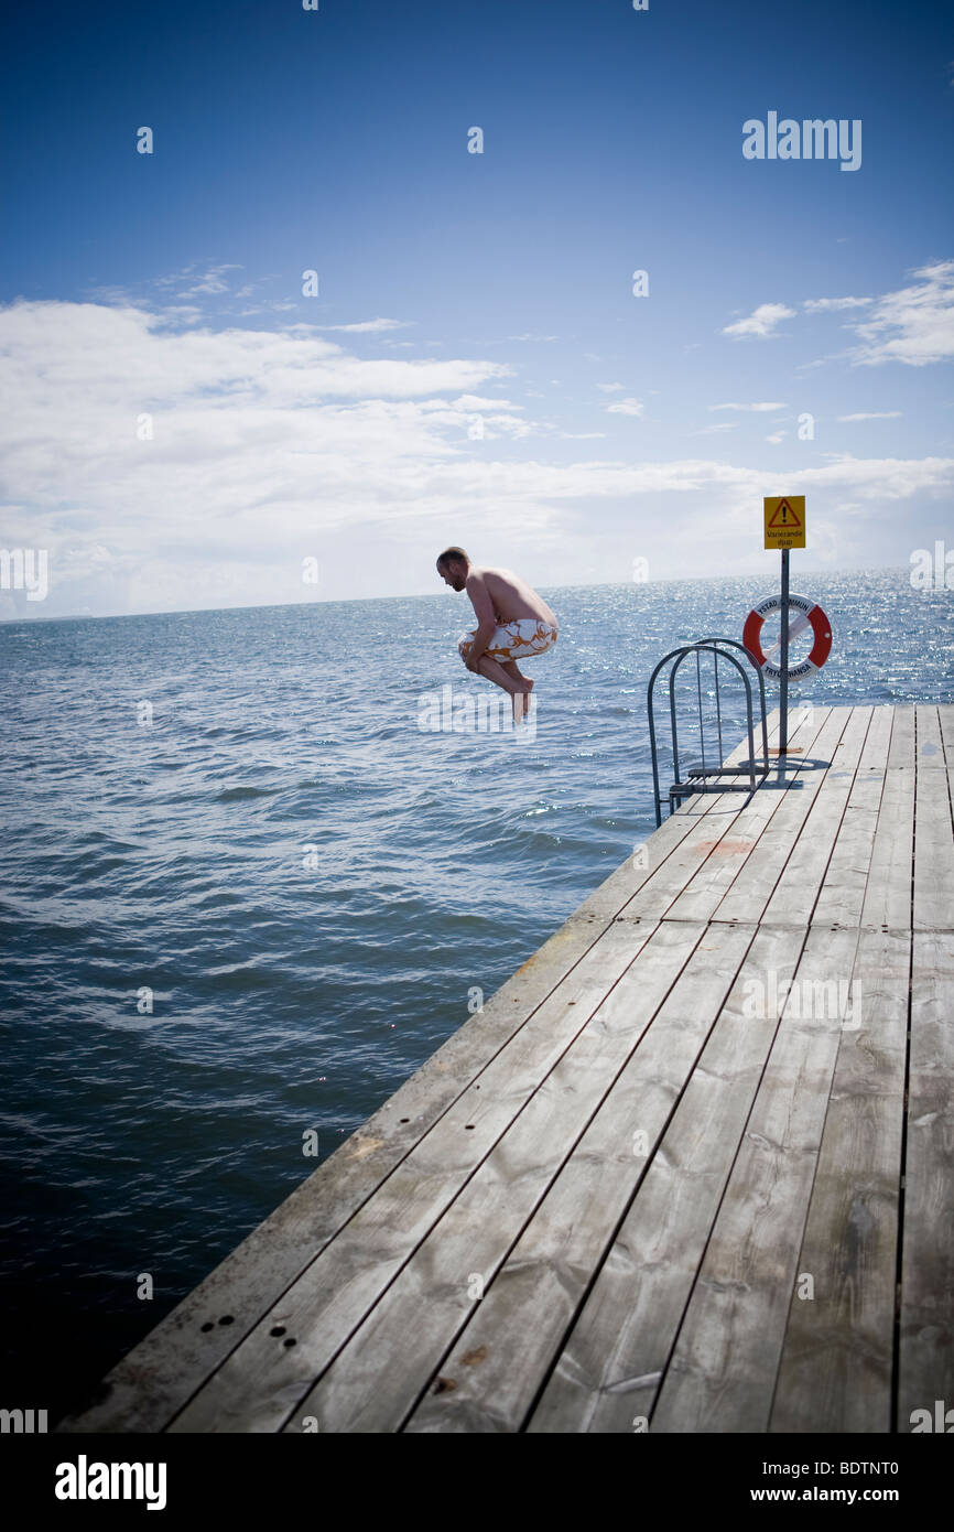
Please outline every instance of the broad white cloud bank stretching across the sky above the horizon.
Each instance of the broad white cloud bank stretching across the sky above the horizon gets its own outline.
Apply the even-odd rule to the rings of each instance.
[[[548,427],[493,397],[507,368],[358,358],[311,325],[213,331],[132,305],[20,302],[0,308],[0,354],[3,536],[51,556],[51,597],[21,613],[31,617],[374,594],[392,579],[420,590],[432,541],[459,541],[461,521],[513,556],[525,545],[554,561],[568,548],[576,558],[585,522],[583,567],[634,498],[666,536],[697,529],[706,558],[718,552],[726,567],[749,547],[766,492],[766,463],[521,457]],[[605,408],[622,406],[642,409]],[[136,438],[144,414],[153,440]],[[469,435],[475,417],[482,440]],[[952,458],[793,463],[786,487],[818,495],[819,513],[825,496],[835,510],[867,504],[891,529],[888,502],[954,487]],[[784,467],[779,458],[773,481]],[[302,558],[334,548],[337,574],[303,590]],[[12,616],[20,593],[6,594]]]

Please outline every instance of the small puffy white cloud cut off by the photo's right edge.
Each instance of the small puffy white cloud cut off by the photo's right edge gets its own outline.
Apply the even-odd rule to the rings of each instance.
[[[919,267],[919,280],[897,293],[885,293],[864,323],[854,325],[861,346],[856,365],[905,362],[922,368],[954,357],[954,260]]]

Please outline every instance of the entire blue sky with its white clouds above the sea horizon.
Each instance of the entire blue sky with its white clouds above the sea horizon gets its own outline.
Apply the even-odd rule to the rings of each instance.
[[[436,591],[447,542],[769,578],[786,492],[804,570],[954,544],[937,6],[52,3],[5,41],[0,544],[51,588],[0,616]],[[769,112],[859,119],[861,167],[743,158]]]

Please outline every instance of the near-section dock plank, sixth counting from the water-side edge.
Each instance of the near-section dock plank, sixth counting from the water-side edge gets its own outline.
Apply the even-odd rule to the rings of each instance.
[[[654,1432],[767,1429],[841,1039],[839,1019],[818,1014],[816,996],[850,982],[856,945],[856,931],[809,931],[652,1411]]]

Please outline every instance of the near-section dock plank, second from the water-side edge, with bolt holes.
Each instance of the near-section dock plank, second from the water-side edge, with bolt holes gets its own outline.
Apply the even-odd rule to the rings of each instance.
[[[296,1402],[380,1302],[433,1226],[447,1218],[464,1186],[513,1120],[524,1114],[654,930],[626,921],[609,927],[479,1080],[279,1298],[270,1316],[233,1351],[170,1429],[280,1429]],[[660,950],[671,950],[672,962],[681,965],[688,951],[680,944],[688,941],[691,951],[698,936],[688,928],[672,936],[660,933]],[[559,1131],[551,1129],[550,1154],[560,1151]],[[492,1229],[495,1216],[487,1223]],[[475,1239],[479,1235],[475,1227]],[[464,1291],[467,1273],[475,1270],[479,1268],[467,1265],[461,1275]],[[276,1325],[282,1327],[277,1337],[271,1333]],[[294,1347],[286,1345],[289,1339]]]

